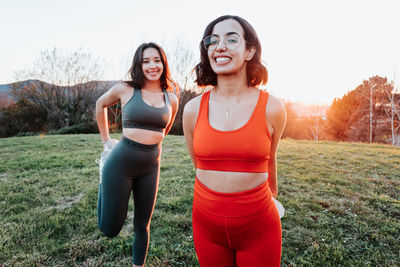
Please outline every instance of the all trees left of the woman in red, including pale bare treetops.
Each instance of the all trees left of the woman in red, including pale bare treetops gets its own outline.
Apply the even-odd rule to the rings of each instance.
[[[181,41],[167,51],[174,80],[181,86],[180,107],[172,134],[183,134],[183,107],[197,95],[188,90],[194,55]],[[96,100],[121,81],[98,81],[104,62],[82,50],[44,50],[31,70],[15,73],[22,81],[11,84],[11,96],[0,95],[0,137],[47,134],[97,133]],[[35,80],[32,80],[35,77]],[[46,82],[43,82],[46,81]],[[121,106],[108,108],[110,130],[121,131]]]

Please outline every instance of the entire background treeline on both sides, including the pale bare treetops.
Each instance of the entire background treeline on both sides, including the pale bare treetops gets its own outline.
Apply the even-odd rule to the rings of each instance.
[[[189,83],[194,56],[180,42],[176,48],[169,58],[181,90],[171,134],[180,135],[184,106],[197,92]],[[11,84],[12,101],[0,98],[0,137],[97,133],[95,102],[121,82],[98,81],[103,76],[104,64],[100,61],[80,50],[69,54],[56,48],[41,52],[32,71],[17,73],[16,79],[25,81]],[[30,80],[31,77],[38,80]],[[299,115],[292,103],[285,103],[285,107],[284,138],[400,145],[400,93],[387,78],[373,76],[363,81],[335,99],[327,111],[316,106],[312,115]],[[110,130],[121,131],[119,104],[108,109],[108,118]]]

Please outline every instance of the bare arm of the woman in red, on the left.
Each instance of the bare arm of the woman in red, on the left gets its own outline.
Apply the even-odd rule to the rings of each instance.
[[[182,127],[185,135],[186,146],[192,159],[194,168],[196,169],[196,159],[193,152],[193,130],[197,122],[197,114],[199,113],[201,95],[190,100],[183,110]]]

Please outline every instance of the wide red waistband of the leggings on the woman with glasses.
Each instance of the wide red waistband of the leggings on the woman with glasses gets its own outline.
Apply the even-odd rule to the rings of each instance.
[[[195,180],[193,209],[207,211],[217,216],[243,217],[261,212],[272,203],[268,182],[237,193],[214,191],[199,179]]]

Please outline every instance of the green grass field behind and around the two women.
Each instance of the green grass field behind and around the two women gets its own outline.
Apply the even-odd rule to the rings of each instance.
[[[116,238],[97,229],[101,150],[98,135],[0,139],[0,266],[130,265],[133,213]],[[278,162],[282,266],[400,265],[400,148],[283,140]],[[147,266],[198,266],[193,177],[168,136]]]

